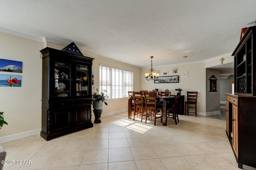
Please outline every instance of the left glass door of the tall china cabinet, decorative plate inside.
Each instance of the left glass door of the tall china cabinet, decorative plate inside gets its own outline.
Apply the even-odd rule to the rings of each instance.
[[[55,61],[54,97],[70,96],[70,64]]]

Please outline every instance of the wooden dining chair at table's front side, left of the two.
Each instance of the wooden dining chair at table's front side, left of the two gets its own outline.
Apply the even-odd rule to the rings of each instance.
[[[134,116],[133,120],[135,120],[135,115],[139,115],[141,118],[144,116],[144,111],[145,111],[145,103],[143,100],[143,92],[132,92],[133,100],[134,100]]]

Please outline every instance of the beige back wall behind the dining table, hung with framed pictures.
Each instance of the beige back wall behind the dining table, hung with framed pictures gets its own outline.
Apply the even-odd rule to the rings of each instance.
[[[178,68],[178,74],[172,73],[172,68]],[[164,91],[168,89],[172,95],[176,95],[175,89],[181,88],[181,95],[185,95],[185,101],[187,98],[187,91],[197,91],[198,89],[198,105],[197,112],[199,115],[206,112],[205,108],[205,99],[206,99],[206,87],[205,87],[205,76],[206,71],[204,63],[197,64],[180,64],[175,66],[165,66],[165,67],[154,67],[156,70],[160,70],[160,76],[163,76],[163,71],[168,71],[168,76],[179,76],[179,83],[157,83],[154,84],[154,81],[146,80],[144,78],[144,73],[148,72],[148,68],[143,68],[141,71],[141,86],[142,90],[153,90],[158,88],[158,91]],[[182,72],[188,71],[188,77],[182,77]]]

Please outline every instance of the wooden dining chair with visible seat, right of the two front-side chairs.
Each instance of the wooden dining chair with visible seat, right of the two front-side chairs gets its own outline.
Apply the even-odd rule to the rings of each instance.
[[[154,117],[154,125],[156,125],[156,119],[161,118],[162,122],[162,106],[156,104],[156,93],[155,92],[144,92],[145,104],[146,104],[146,117],[145,123],[147,123],[147,118]],[[158,114],[158,109],[160,109],[160,114]]]

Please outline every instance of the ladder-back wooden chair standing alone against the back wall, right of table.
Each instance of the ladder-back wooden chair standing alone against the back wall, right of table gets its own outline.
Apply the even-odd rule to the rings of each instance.
[[[187,92],[187,101],[185,102],[185,115],[186,113],[195,113],[197,115],[197,112],[196,112],[197,93],[198,92]],[[190,105],[194,105],[194,107]],[[189,108],[194,108],[195,111],[194,112],[189,111],[188,110]]]

